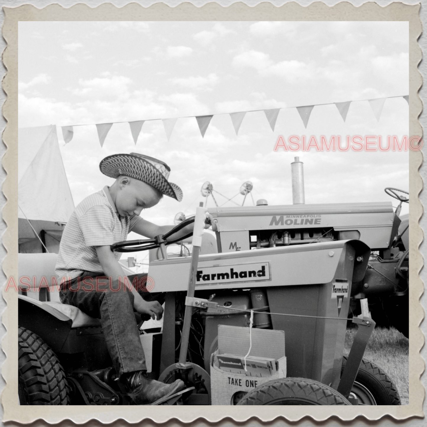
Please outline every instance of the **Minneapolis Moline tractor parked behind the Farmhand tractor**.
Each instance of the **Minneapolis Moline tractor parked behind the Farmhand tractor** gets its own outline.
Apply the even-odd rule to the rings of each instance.
[[[377,324],[408,334],[407,215],[402,221],[391,202],[275,206],[258,202],[254,207],[208,209],[216,225],[218,252],[361,240],[371,248],[371,256],[363,280],[352,284],[350,313],[358,313],[358,301],[369,298]]]

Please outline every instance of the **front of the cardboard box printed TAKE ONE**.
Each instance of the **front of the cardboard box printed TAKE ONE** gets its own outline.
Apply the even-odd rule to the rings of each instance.
[[[219,369],[216,355],[211,357],[211,402],[212,405],[235,405],[247,392],[270,380],[286,377],[286,357],[278,359],[278,371],[268,377],[249,377]]]

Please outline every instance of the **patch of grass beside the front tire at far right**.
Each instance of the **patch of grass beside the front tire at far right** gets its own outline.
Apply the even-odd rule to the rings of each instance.
[[[349,328],[345,333],[346,353],[356,332],[357,328]],[[395,383],[402,405],[409,404],[409,339],[395,328],[375,328],[363,358],[383,369]]]

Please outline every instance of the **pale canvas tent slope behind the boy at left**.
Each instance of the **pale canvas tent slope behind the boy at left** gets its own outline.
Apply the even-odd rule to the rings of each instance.
[[[18,218],[67,222],[73,210],[56,126],[18,129]]]

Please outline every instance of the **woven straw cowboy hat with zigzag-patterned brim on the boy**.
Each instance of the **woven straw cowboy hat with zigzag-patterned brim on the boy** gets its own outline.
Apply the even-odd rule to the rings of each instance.
[[[99,169],[110,178],[130,176],[181,202],[182,190],[168,181],[170,167],[161,160],[139,153],[113,154],[102,159]]]

